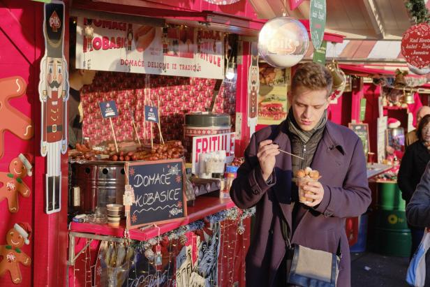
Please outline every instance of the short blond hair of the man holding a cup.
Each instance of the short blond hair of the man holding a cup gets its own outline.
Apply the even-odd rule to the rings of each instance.
[[[333,78],[325,66],[316,63],[304,63],[300,65],[292,76],[291,91],[295,94],[298,87],[305,87],[312,91],[327,90],[327,98],[331,94]]]

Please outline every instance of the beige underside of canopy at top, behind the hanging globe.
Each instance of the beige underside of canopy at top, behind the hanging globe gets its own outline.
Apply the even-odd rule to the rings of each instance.
[[[263,19],[281,16],[285,10],[284,0],[250,1]],[[287,4],[285,12],[290,17],[309,19],[309,3],[305,0],[292,11]],[[327,1],[326,31],[348,39],[399,40],[411,24],[403,0]]]

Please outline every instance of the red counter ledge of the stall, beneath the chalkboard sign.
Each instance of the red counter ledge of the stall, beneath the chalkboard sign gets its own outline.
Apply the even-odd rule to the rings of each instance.
[[[235,203],[230,199],[214,198],[209,196],[200,196],[196,198],[195,205],[187,207],[188,216],[184,219],[160,224],[160,234],[167,233],[171,230],[179,228],[179,226],[184,226],[193,221],[203,219],[208,215],[215,214],[216,212],[221,212],[225,209],[230,209],[235,207]],[[93,223],[77,223],[72,222],[69,231],[79,232],[79,233],[94,233],[98,235],[107,235],[114,237],[124,237],[124,230],[126,228],[126,221],[121,220],[119,227],[112,227],[106,224],[93,224]],[[129,230],[131,240],[149,240],[152,237],[158,235],[158,228],[154,225],[144,228],[144,230],[132,229]]]

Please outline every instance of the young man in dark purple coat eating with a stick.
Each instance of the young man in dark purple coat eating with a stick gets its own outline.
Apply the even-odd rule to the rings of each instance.
[[[306,63],[292,78],[287,119],[254,133],[230,196],[239,208],[256,206],[253,240],[246,256],[246,286],[287,286],[286,241],[336,253],[342,258],[337,286],[350,286],[346,217],[371,203],[366,160],[358,136],[327,120],[332,76],[325,66]],[[292,152],[297,159],[280,150]],[[308,182],[300,203],[292,175],[311,167],[322,176]]]

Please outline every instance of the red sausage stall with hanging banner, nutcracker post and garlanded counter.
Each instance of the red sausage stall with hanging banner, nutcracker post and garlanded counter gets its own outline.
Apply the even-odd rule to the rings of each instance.
[[[200,139],[202,146],[199,146],[199,139],[195,139],[197,147],[204,152],[209,152],[205,146],[208,140],[212,143],[219,142],[216,149],[212,145],[211,151],[225,150],[224,157],[228,157],[230,163],[235,158],[235,142],[239,143],[239,147],[245,145],[241,142],[246,140],[246,137],[242,138],[241,135],[235,138],[234,131],[235,113],[242,109],[241,105],[246,105],[244,87],[246,87],[247,78],[237,80],[237,73],[247,71],[249,42],[240,41],[243,52],[237,53],[237,46],[232,45],[237,43],[237,36],[232,33],[253,35],[261,26],[260,21],[255,22],[249,18],[253,17],[253,10],[249,5],[242,1],[234,7],[227,8],[231,14],[224,14],[221,13],[226,11],[224,8],[205,1],[199,2],[197,6],[193,3],[188,7],[184,7],[179,1],[176,6],[173,6],[173,3],[167,6],[162,3],[148,2],[142,4],[145,8],[136,8],[122,1],[117,4],[93,2],[91,5],[87,5],[89,4],[87,1],[73,1],[71,8],[71,3],[68,1],[65,3],[52,1],[51,4],[59,6],[58,9],[53,8],[53,10],[45,10],[43,3],[26,2],[24,5],[16,1],[6,2],[4,6],[3,3],[1,4],[1,27],[6,33],[6,35],[1,34],[2,43],[7,44],[2,45],[2,56],[10,56],[8,59],[15,64],[10,64],[5,60],[6,58],[1,58],[1,65],[4,67],[1,84],[3,91],[7,93],[4,101],[1,101],[0,109],[1,122],[5,124],[3,130],[11,131],[13,134],[6,133],[5,139],[1,138],[0,157],[2,157],[2,170],[5,170],[5,180],[2,180],[0,188],[5,189],[5,192],[6,189],[16,191],[15,197],[19,201],[15,200],[15,197],[2,200],[2,204],[6,206],[3,209],[3,217],[6,220],[2,221],[1,230],[5,238],[8,233],[17,234],[22,238],[19,246],[14,246],[17,249],[10,251],[21,253],[22,262],[17,264],[20,275],[17,276],[15,269],[6,270],[5,275],[0,277],[1,285],[20,283],[31,286],[35,284],[34,282],[40,282],[40,284],[43,282],[43,285],[47,286],[66,285],[66,280],[69,281],[66,279],[67,245],[71,247],[70,258],[68,258],[72,266],[69,272],[69,283],[73,286],[84,286],[91,282],[94,284],[94,280],[101,278],[97,277],[98,272],[109,274],[110,277],[108,277],[112,279],[109,270],[110,267],[113,269],[119,267],[119,261],[121,261],[119,258],[123,260],[140,258],[142,263],[134,265],[133,268],[140,268],[142,272],[148,270],[150,276],[146,279],[136,279],[138,274],[135,274],[135,280],[138,281],[154,282],[155,280],[159,284],[162,280],[165,280],[163,281],[165,284],[178,281],[177,285],[182,284],[181,286],[187,286],[191,280],[200,284],[207,280],[212,282],[222,280],[230,282],[231,285],[235,282],[243,282],[244,255],[249,246],[248,218],[253,211],[240,211],[228,198],[220,198],[220,191],[224,191],[224,188],[221,189],[223,178],[212,179],[212,182],[208,179],[204,183],[189,182],[186,177],[188,166],[177,159],[181,159],[186,154],[185,151],[188,152],[186,156],[191,157],[195,135],[205,135]],[[52,6],[48,7],[52,8]],[[202,12],[203,10],[212,12]],[[16,11],[20,12],[15,15]],[[112,12],[119,11],[121,14],[113,15],[114,19],[112,19]],[[107,15],[107,12],[111,14]],[[128,16],[124,17],[124,13]],[[154,15],[157,15],[158,20],[148,20],[147,16]],[[81,48],[82,50],[85,50],[84,47],[87,48],[86,52],[88,52],[88,54],[82,54],[84,58],[98,50],[109,52],[109,50],[124,48],[128,51],[130,43],[133,46],[132,52],[138,55],[138,58],[131,59],[131,54],[128,53],[122,58],[122,65],[121,56],[119,56],[112,57],[118,60],[118,66],[97,68],[100,72],[94,84],[82,89],[83,112],[86,115],[83,132],[84,137],[89,140],[85,140],[82,142],[83,145],[77,145],[75,150],[69,150],[70,154],[66,154],[63,145],[66,144],[67,128],[62,121],[66,119],[67,105],[64,97],[66,93],[62,91],[68,89],[67,51],[71,45],[74,45],[74,43],[69,45],[69,41],[73,41],[69,16],[77,22],[83,21],[84,18],[94,20],[91,23],[82,22],[84,26],[81,28],[85,29],[91,24],[92,26],[88,28],[105,29],[105,31],[96,30],[96,33],[101,33],[98,36],[92,33],[80,35]],[[18,20],[21,18],[22,20]],[[165,22],[166,19],[170,19],[171,22]],[[236,24],[228,24],[231,19],[234,19]],[[15,24],[11,25],[11,23]],[[209,27],[209,23],[212,27]],[[142,51],[137,50],[138,48],[144,50],[142,47],[145,45],[144,41],[138,40],[138,38],[144,38],[143,32],[138,32],[139,27],[142,26],[151,27],[155,37],[151,52],[144,55],[140,54]],[[29,29],[29,27],[40,27],[40,29]],[[130,29],[134,31],[127,34]],[[119,34],[112,36],[112,40],[111,35],[115,33]],[[106,38],[106,35],[109,38]],[[128,36],[133,38],[133,41],[129,41],[131,39]],[[230,37],[231,43],[229,43]],[[15,45],[20,47],[19,51],[14,48]],[[225,50],[225,45],[230,47]],[[195,56],[197,51],[201,57]],[[161,57],[168,56],[171,61],[160,64],[154,53],[161,54]],[[106,57],[102,54],[99,61],[105,64]],[[151,57],[154,58],[152,61]],[[195,60],[193,60],[194,57]],[[59,59],[58,62],[52,63],[57,65],[53,70],[50,66],[52,58]],[[145,68],[152,71],[142,69],[143,61],[145,61]],[[190,61],[192,65],[187,63]],[[98,60],[94,58],[89,61],[89,58],[85,58],[83,61],[78,60],[76,66],[90,68],[90,66],[79,66],[80,64],[89,65],[89,63],[94,65],[91,68],[96,68]],[[16,64],[19,65],[16,66]],[[224,79],[225,66],[230,67],[230,74],[233,75],[232,78],[229,76],[228,80]],[[133,70],[135,68],[141,68],[141,71]],[[52,73],[58,76],[63,72],[64,78],[61,79],[64,81],[59,83],[59,87],[56,87],[56,82],[50,89],[45,89],[45,79],[50,81]],[[221,80],[220,82],[225,80],[221,90],[220,85],[216,85],[217,80]],[[61,92],[57,92],[54,88]],[[242,96],[236,96],[237,94]],[[62,97],[61,101],[52,101],[53,95]],[[10,105],[11,98],[16,99],[10,101]],[[98,105],[98,102],[105,102],[105,105]],[[61,103],[63,108],[61,117],[54,115],[59,110],[52,108],[58,103]],[[149,109],[144,116],[145,105]],[[211,112],[223,114],[221,124],[225,127],[225,131],[209,133],[213,127],[212,118],[209,118],[209,124],[202,126],[199,126],[198,116],[184,122],[186,113],[205,112],[211,105],[213,106],[210,109]],[[19,110],[17,107],[20,107]],[[103,115],[101,109],[104,111]],[[9,112],[3,114],[3,111]],[[113,120],[112,116],[114,116]],[[154,119],[150,123],[143,118]],[[204,118],[204,115],[200,115],[200,119]],[[215,120],[215,124],[218,123],[217,121]],[[41,123],[41,126],[35,123]],[[190,131],[185,135],[184,124]],[[55,133],[55,136],[59,135],[60,138],[47,138],[51,133]],[[57,151],[50,149],[54,145],[55,147],[59,145]],[[185,149],[184,145],[189,146]],[[127,152],[126,149],[128,149]],[[47,156],[47,159],[39,154]],[[70,175],[66,172],[68,159],[71,163]],[[159,218],[151,220],[147,220],[147,216],[142,216],[143,226],[133,230],[127,229],[130,230],[128,236],[128,232],[124,233],[127,218],[125,214],[112,214],[118,210],[113,212],[110,210],[110,216],[107,219],[109,222],[106,222],[107,212],[106,214],[103,214],[103,210],[97,212],[97,207],[103,209],[103,205],[106,207],[106,204],[117,204],[121,201],[122,205],[122,193],[128,180],[124,178],[126,161],[133,163],[151,161],[147,165],[147,168],[151,169],[158,163],[165,163],[161,161],[166,160],[174,163],[170,170],[176,165],[181,165],[181,168],[169,171],[171,174],[177,172],[176,177],[172,177],[177,185],[173,189],[175,192],[154,194],[159,201],[163,201],[163,196],[168,200],[174,200],[175,207],[170,206],[168,214],[155,212],[154,214]],[[12,164],[10,168],[9,163]],[[13,175],[15,172],[13,168],[17,170],[17,175],[9,177],[8,175]],[[25,170],[25,173],[17,168]],[[191,165],[189,169],[191,170]],[[74,172],[82,172],[80,173],[82,177],[73,176]],[[234,168],[230,170],[233,176],[234,172]],[[210,173],[212,177],[210,170],[205,173]],[[216,173],[223,177],[223,172]],[[112,174],[115,175],[114,178],[111,177]],[[165,179],[165,174],[163,176]],[[71,189],[68,189],[68,183]],[[172,185],[170,183],[165,185]],[[228,184],[228,180],[225,180],[225,183]],[[121,191],[117,192],[118,186],[121,186]],[[187,194],[188,191],[191,191],[191,194]],[[200,197],[200,194],[205,193],[209,193],[209,196]],[[196,194],[197,199],[188,200]],[[221,193],[221,196],[225,194],[228,193]],[[139,196],[136,193],[135,200],[142,203]],[[188,208],[187,205],[189,205]],[[163,206],[154,207],[157,209]],[[94,216],[76,216],[85,213]],[[175,218],[169,218],[169,215]],[[82,222],[89,218],[94,219],[91,221],[93,223]],[[68,242],[68,220],[73,219],[69,233],[71,241]],[[118,219],[121,221],[119,224]],[[133,220],[133,214],[128,216],[128,221]],[[170,223],[161,223],[166,220]],[[103,224],[96,225],[94,224],[96,221]],[[152,225],[153,222],[157,227]],[[108,223],[112,223],[110,227],[107,227]],[[145,228],[141,230],[142,227]],[[87,239],[89,234],[92,237]],[[137,237],[135,237],[136,234],[138,234]],[[152,241],[149,242],[151,239]],[[152,244],[154,240],[156,244]],[[10,246],[9,237],[6,241],[5,244]],[[80,246],[82,242],[84,243]],[[104,244],[107,246],[117,244],[117,246],[114,253],[109,253],[110,259],[103,258],[103,263],[95,268],[94,263],[88,260],[91,256],[90,252],[94,251],[94,248],[97,253],[105,252]],[[159,249],[160,246],[161,249]],[[183,248],[184,246],[186,248]],[[131,253],[131,248],[136,251]],[[153,249],[154,256],[151,256],[150,249]],[[124,255],[125,250],[126,255]],[[145,251],[147,256],[139,257],[139,254]],[[118,260],[118,265],[115,265],[112,260],[113,254]],[[8,256],[10,260],[16,258],[16,255]],[[98,258],[98,256],[92,258]],[[82,260],[86,260],[88,265],[80,265]],[[37,264],[34,264],[35,262]],[[155,279],[151,275],[157,272],[159,265],[163,265],[165,270],[168,270],[165,279],[161,277]],[[106,278],[107,275],[103,276]],[[239,284],[242,285],[242,283]]]

